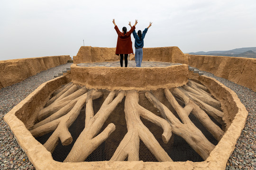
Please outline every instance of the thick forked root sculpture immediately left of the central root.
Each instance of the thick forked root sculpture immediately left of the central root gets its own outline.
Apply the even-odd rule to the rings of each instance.
[[[111,91],[106,100],[103,102],[101,109],[94,115],[92,107],[92,95],[87,96],[85,110],[85,127],[77,138],[72,150],[64,162],[84,161],[110,134],[116,129],[113,123],[110,123],[98,136],[102,125],[108,119],[110,113],[116,108],[119,102],[124,98],[125,92],[120,91],[117,97],[115,92]]]

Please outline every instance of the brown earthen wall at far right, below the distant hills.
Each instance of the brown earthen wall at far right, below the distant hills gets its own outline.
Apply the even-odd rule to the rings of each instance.
[[[256,59],[189,54],[187,56],[190,66],[226,78],[256,92]]]

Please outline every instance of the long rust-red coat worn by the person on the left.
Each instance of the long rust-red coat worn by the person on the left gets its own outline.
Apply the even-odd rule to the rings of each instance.
[[[119,31],[118,26],[115,26],[115,30],[117,31],[117,34],[118,34],[116,55],[131,54],[131,53],[133,54],[131,34],[133,30],[135,30],[135,26],[132,26],[130,31],[127,32],[125,35]]]

